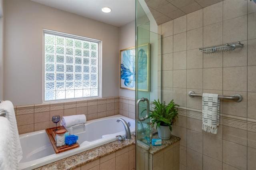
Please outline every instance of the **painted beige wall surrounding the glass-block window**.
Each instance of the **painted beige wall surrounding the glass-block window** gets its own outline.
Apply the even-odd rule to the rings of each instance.
[[[118,96],[117,27],[30,0],[4,3],[4,100],[42,103],[42,29],[102,40],[102,97]]]

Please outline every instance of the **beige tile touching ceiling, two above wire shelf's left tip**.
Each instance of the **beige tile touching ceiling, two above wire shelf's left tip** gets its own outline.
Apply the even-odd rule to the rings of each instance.
[[[187,15],[187,28],[193,30],[203,26],[203,10],[197,10]]]

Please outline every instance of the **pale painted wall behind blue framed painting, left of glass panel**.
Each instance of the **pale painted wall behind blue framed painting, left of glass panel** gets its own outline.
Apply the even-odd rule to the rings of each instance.
[[[132,21],[119,28],[119,50],[130,48],[130,47],[135,47],[135,21]],[[119,68],[119,71],[120,71],[120,68]],[[127,89],[119,88],[119,95],[135,99],[135,90],[127,90]]]

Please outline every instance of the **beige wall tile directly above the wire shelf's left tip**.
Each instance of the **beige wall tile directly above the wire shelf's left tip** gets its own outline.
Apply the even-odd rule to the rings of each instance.
[[[187,32],[187,49],[203,47],[203,28],[197,28]]]

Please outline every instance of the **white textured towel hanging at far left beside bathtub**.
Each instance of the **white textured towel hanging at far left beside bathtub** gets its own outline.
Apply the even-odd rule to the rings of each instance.
[[[0,169],[16,170],[22,159],[22,148],[12,102],[0,103],[0,111],[6,112],[5,118],[0,119]]]

